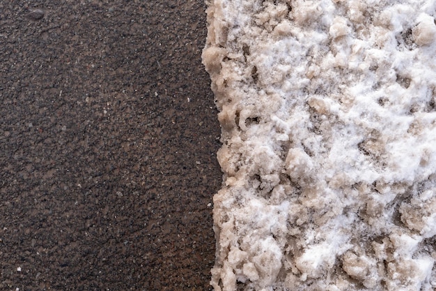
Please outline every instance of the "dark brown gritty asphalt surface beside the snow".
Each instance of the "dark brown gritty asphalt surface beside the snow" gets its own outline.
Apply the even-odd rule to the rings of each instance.
[[[204,8],[0,2],[0,290],[210,290]]]

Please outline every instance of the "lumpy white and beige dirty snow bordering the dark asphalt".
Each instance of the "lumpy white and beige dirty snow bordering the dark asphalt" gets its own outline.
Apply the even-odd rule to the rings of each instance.
[[[436,0],[212,0],[224,290],[435,290]]]

